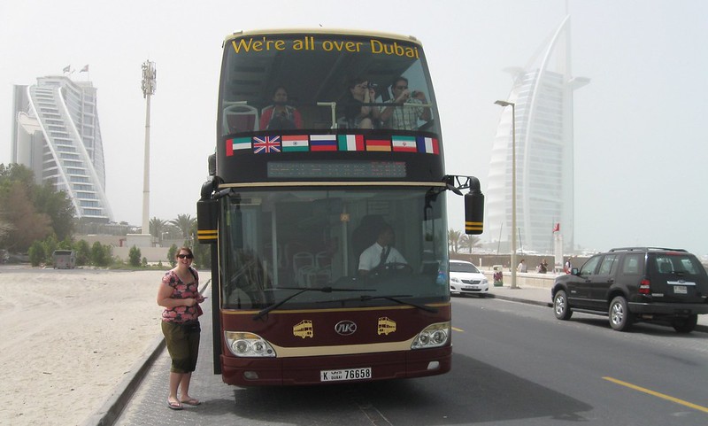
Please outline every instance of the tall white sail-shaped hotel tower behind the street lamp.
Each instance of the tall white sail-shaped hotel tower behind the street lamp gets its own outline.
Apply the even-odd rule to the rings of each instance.
[[[554,229],[573,250],[573,90],[570,17],[525,68],[514,68],[507,101],[515,104],[518,250],[553,252]],[[485,228],[512,241],[512,108],[504,108],[489,164]],[[557,231],[558,232],[558,231]]]

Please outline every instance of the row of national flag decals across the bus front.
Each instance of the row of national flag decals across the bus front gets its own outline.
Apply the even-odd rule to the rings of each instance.
[[[227,156],[236,152],[271,154],[297,151],[395,151],[440,154],[435,137],[364,135],[253,136],[227,139]]]

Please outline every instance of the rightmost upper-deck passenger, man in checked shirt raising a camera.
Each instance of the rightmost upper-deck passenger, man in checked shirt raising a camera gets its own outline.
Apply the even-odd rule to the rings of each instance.
[[[418,120],[431,119],[430,107],[419,106],[427,104],[426,96],[420,90],[408,89],[408,79],[400,76],[391,84],[393,98],[381,112],[381,120],[387,128],[396,130],[417,130]]]

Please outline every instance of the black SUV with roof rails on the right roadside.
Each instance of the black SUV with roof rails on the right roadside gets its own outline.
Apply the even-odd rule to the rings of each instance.
[[[680,249],[625,247],[596,254],[580,270],[556,278],[551,289],[559,320],[573,311],[609,315],[612,329],[635,321],[663,321],[679,333],[708,314],[708,275],[696,256]]]

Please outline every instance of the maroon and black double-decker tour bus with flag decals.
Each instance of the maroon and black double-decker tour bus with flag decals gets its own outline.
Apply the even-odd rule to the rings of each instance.
[[[214,369],[287,385],[432,376],[452,347],[447,175],[421,43],[250,31],[223,44],[216,152],[197,202],[212,245]]]

